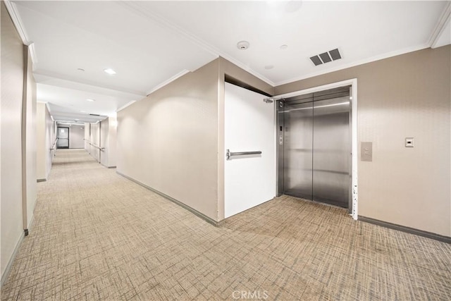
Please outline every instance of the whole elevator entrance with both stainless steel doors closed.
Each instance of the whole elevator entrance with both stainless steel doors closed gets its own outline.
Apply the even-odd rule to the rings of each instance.
[[[278,195],[352,208],[351,87],[277,101]]]

